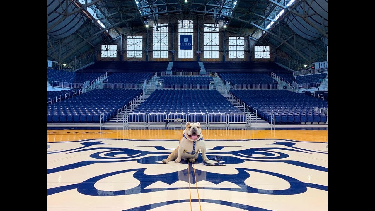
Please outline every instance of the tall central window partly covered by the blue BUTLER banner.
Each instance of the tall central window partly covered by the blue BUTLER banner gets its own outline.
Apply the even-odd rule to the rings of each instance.
[[[193,58],[194,36],[193,36],[193,20],[178,20],[178,58]],[[192,50],[180,49],[180,35],[192,35]]]

